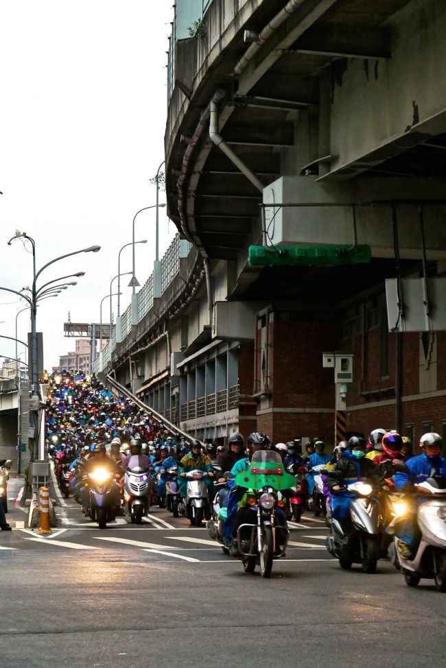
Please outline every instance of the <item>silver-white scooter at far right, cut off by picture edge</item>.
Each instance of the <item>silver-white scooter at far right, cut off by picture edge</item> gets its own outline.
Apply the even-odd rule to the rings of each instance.
[[[398,538],[390,546],[389,556],[393,564],[403,573],[406,584],[416,587],[422,577],[433,579],[437,591],[446,592],[446,478],[427,478],[415,486],[419,505],[406,501],[394,503],[395,521],[389,530],[397,530],[407,521],[410,513],[416,513],[416,523],[421,532],[416,553],[403,558],[398,551]]]

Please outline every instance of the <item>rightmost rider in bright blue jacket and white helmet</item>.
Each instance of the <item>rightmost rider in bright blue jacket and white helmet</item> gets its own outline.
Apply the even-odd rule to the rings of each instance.
[[[435,475],[446,477],[446,458],[441,456],[443,446],[441,436],[429,431],[421,436],[419,445],[422,453],[417,457],[411,457],[406,462],[407,473],[397,471],[393,477],[397,490],[410,489],[412,484],[424,482]],[[416,503],[425,503],[425,501],[427,499],[419,498]],[[421,538],[415,512],[408,513],[406,518],[395,527],[395,534],[399,538],[397,549],[401,556],[406,559],[412,557]]]

